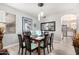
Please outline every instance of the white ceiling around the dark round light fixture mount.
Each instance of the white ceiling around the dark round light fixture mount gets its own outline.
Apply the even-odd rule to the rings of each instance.
[[[38,7],[37,3],[5,3],[5,5],[18,9],[34,17],[37,17],[41,11],[44,12],[45,16],[65,12],[79,12],[78,3],[44,3],[43,7]]]

